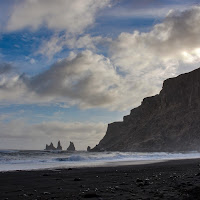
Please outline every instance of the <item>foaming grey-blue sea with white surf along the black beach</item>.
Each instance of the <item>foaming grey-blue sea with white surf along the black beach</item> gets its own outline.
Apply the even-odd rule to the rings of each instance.
[[[112,167],[192,158],[200,158],[200,153],[0,150],[0,171]]]

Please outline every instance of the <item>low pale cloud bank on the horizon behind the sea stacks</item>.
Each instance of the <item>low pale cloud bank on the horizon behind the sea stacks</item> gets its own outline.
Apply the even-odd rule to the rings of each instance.
[[[21,149],[43,149],[46,143],[53,142],[56,146],[61,140],[63,149],[73,141],[78,150],[86,150],[88,145],[93,147],[99,142],[107,128],[104,123],[52,121],[28,124],[22,119],[8,123],[0,121],[0,126],[1,147]]]

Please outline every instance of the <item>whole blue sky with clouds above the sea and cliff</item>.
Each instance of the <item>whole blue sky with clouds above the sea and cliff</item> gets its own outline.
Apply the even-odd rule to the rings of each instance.
[[[200,0],[0,0],[0,149],[94,147],[200,62]]]

